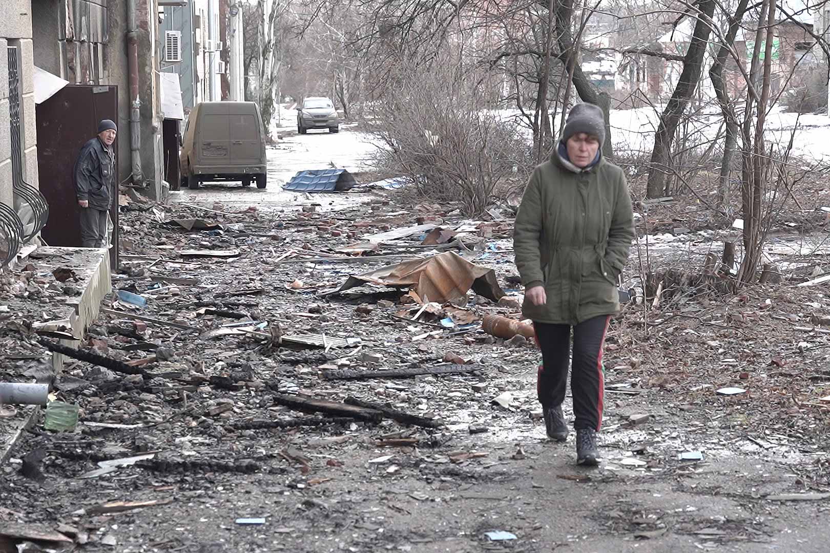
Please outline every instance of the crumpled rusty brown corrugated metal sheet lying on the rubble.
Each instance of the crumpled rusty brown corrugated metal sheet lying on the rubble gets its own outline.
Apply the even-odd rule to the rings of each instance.
[[[452,251],[352,275],[338,289],[323,295],[344,292],[364,284],[412,289],[424,303],[443,303],[462,298],[470,289],[494,302],[505,295],[493,269],[471,264]]]

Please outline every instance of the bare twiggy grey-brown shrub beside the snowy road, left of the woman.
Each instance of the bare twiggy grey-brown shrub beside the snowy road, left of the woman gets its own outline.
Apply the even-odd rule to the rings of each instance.
[[[497,191],[527,180],[530,146],[514,122],[484,109],[474,75],[457,68],[401,69],[390,75],[369,130],[380,141],[379,172],[408,177],[432,201],[458,201],[468,216]]]

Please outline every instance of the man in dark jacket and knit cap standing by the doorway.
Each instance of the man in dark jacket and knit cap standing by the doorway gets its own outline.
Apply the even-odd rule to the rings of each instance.
[[[117,128],[110,119],[98,124],[98,136],[81,148],[75,163],[75,192],[81,206],[81,245],[105,248],[110,188],[115,181],[115,142]]]

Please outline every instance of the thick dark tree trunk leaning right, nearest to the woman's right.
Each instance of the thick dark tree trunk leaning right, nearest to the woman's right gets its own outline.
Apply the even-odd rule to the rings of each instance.
[[[660,125],[654,137],[654,149],[652,150],[652,162],[648,172],[646,192],[646,196],[649,198],[657,198],[663,195],[663,190],[666,187],[666,173],[671,165],[672,138],[683,112],[686,111],[691,96],[697,88],[697,83],[701,80],[703,58],[706,54],[706,46],[709,43],[710,26],[713,24],[712,14],[715,12],[715,0],[700,0],[697,6],[700,12],[697,15],[689,50],[686,51],[683,60],[683,70],[677,80],[674,93],[660,116]]]

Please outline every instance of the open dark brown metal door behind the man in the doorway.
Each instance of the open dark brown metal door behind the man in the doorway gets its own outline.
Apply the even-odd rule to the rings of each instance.
[[[81,246],[81,207],[75,195],[72,169],[81,147],[95,138],[101,119],[118,121],[118,87],[115,85],[67,85],[37,105],[37,170],[40,189],[53,207],[41,232],[49,245]],[[125,132],[126,131],[126,132]],[[118,141],[129,140],[129,130],[119,129],[115,138],[115,167]],[[119,172],[116,170],[115,174]],[[118,267],[118,178],[110,190],[113,224],[110,265]]]

